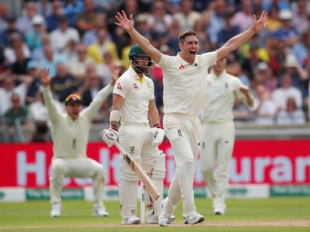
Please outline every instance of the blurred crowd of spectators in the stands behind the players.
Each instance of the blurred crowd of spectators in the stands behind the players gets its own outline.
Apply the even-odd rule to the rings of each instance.
[[[59,111],[76,92],[86,107],[110,83],[112,65],[129,67],[134,44],[114,25],[119,10],[133,14],[136,29],[164,54],[178,52],[178,34],[198,34],[200,53],[216,50],[249,28],[253,14],[269,14],[265,31],[229,55],[227,72],[251,88],[255,106],[236,101],[235,120],[256,125],[302,125],[309,118],[310,1],[307,0],[38,0],[23,1],[14,15],[0,3],[0,142],[19,141],[21,127],[34,128],[32,142],[49,141],[49,121],[38,78],[48,67]],[[163,73],[154,66],[158,109],[163,116]],[[94,123],[107,123],[103,103]],[[3,129],[4,128],[4,129]]]

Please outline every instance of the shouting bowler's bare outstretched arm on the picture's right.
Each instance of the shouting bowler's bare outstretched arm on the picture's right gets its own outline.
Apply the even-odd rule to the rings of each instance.
[[[229,53],[239,48],[243,43],[248,41],[251,38],[251,36],[253,36],[255,33],[264,30],[265,25],[267,25],[267,19],[268,17],[265,11],[262,12],[262,14],[260,15],[260,19],[258,20],[256,20],[256,15],[254,14],[253,25],[251,26],[251,28],[232,37],[221,48],[219,48],[217,52],[218,53],[217,60],[219,61],[223,57],[228,56]]]

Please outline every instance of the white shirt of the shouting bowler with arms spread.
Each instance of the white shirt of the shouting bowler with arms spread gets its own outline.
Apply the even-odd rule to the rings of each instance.
[[[194,63],[180,54],[162,55],[158,65],[163,69],[163,104],[165,114],[198,116],[206,96],[207,70],[216,63],[217,52],[197,55]]]

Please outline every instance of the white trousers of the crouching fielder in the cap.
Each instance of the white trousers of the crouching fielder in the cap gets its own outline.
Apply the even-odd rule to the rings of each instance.
[[[94,207],[104,207],[105,173],[99,162],[91,158],[53,158],[50,173],[50,202],[52,204],[61,202],[61,189],[65,177],[92,178]]]

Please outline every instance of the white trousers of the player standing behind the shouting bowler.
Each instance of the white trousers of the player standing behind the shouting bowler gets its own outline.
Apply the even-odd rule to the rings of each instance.
[[[203,123],[200,167],[213,198],[213,207],[225,207],[229,165],[235,142],[234,122]]]

